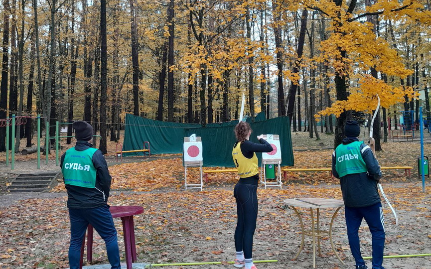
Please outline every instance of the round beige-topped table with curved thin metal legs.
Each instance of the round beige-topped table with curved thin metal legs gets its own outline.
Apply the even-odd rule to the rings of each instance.
[[[313,242],[313,268],[316,268],[316,238],[317,238],[317,246],[319,250],[319,256],[320,253],[320,237],[322,236],[329,236],[329,241],[331,242],[332,250],[335,253],[335,256],[340,260],[341,264],[344,265],[344,262],[340,259],[338,256],[338,253],[335,251],[334,243],[332,242],[332,224],[334,222],[335,217],[337,216],[338,211],[344,206],[344,202],[342,200],[337,199],[321,199],[321,198],[294,198],[294,199],[286,199],[283,201],[286,205],[290,206],[293,211],[295,211],[296,216],[298,216],[299,223],[301,225],[302,230],[302,237],[301,237],[301,246],[299,247],[299,251],[296,254],[295,258],[293,260],[296,260],[298,258],[299,253],[301,253],[302,248],[304,247],[304,236],[308,235],[312,237]],[[298,213],[296,207],[305,207],[310,209],[311,214],[311,230],[305,230],[304,224],[302,222],[301,215]],[[316,209],[316,226],[314,225],[314,214],[313,209]],[[319,209],[320,208],[337,208],[332,215],[331,223],[329,224],[329,231],[324,231],[320,229],[319,225]]]

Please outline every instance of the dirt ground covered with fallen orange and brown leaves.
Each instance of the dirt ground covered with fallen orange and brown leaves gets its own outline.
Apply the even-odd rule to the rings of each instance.
[[[321,134],[322,140],[307,138],[307,133],[293,133],[296,167],[324,167],[330,164],[331,149],[302,151],[312,148],[325,148],[333,144],[333,135]],[[323,144],[320,144],[323,143]],[[385,192],[393,204],[400,225],[395,227],[392,212],[382,201],[386,223],[385,255],[427,254],[431,253],[430,234],[430,191],[422,192],[422,182],[417,177],[417,156],[420,152],[418,143],[385,143],[378,158],[383,166],[411,165],[415,167],[412,178],[404,176],[404,171],[385,172],[382,182]],[[426,145],[426,152],[431,145]],[[166,158],[166,157],[165,157]],[[178,158],[178,156],[176,157]],[[176,172],[180,167],[178,159],[158,160],[153,157],[145,162],[115,165],[115,159],[107,156],[110,170],[114,173],[113,186],[124,186],[123,181],[135,182],[127,177],[128,167],[142,165],[138,179],[126,190],[113,189],[111,205],[141,205],[144,213],[135,217],[135,233],[138,262],[148,264],[224,262],[232,261],[235,255],[233,234],[236,225],[236,206],[233,197],[234,175],[217,177],[204,186],[202,192],[183,191],[184,178]],[[139,158],[138,161],[144,161]],[[172,164],[170,176],[155,178],[148,174],[146,167],[154,164]],[[27,159],[15,163],[15,173],[35,171],[35,160]],[[58,170],[55,161],[41,165],[44,170]],[[152,178],[154,177],[154,178]],[[231,180],[226,180],[231,177]],[[12,194],[4,192],[6,183],[13,174],[10,168],[0,163],[0,269],[27,268],[67,268],[67,248],[69,243],[69,220],[66,208],[67,196],[60,192]],[[145,180],[165,180],[164,187],[146,189]],[[144,180],[145,179],[145,180]],[[222,181],[222,183],[220,183]],[[427,178],[427,186],[431,181]],[[158,186],[158,185],[156,185]],[[140,190],[140,191],[136,191]],[[296,255],[301,239],[301,231],[294,211],[287,208],[284,199],[298,197],[319,197],[341,199],[341,191],[336,180],[326,173],[291,173],[283,189],[269,188],[258,190],[259,216],[254,237],[255,260],[278,260],[277,263],[258,264],[259,269],[299,269],[312,268],[311,239],[305,237],[305,245],[298,259]],[[382,198],[383,200],[383,198]],[[300,210],[306,227],[310,227],[309,211]],[[328,229],[334,209],[321,210],[321,228]],[[348,246],[344,210],[341,209],[334,221],[333,239],[336,251],[344,261],[342,265],[331,249],[328,237],[321,238],[321,257],[317,257],[316,266],[321,269],[353,268],[354,261]],[[124,261],[124,241],[122,225],[115,219],[119,232],[119,246]],[[365,223],[360,229],[363,256],[371,256],[371,235]],[[371,268],[371,261],[368,261]],[[96,235],[92,264],[107,264],[103,240]],[[430,257],[385,259],[386,269],[428,269]],[[221,269],[233,268],[232,265],[209,265],[187,267],[164,267],[167,269]]]

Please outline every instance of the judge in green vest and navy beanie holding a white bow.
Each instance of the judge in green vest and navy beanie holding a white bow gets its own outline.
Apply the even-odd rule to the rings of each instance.
[[[346,217],[347,237],[356,269],[367,269],[362,259],[359,227],[365,219],[372,235],[373,269],[383,269],[385,224],[377,183],[382,178],[379,162],[371,148],[359,141],[357,121],[347,121],[342,144],[332,153],[332,174],[340,179]]]

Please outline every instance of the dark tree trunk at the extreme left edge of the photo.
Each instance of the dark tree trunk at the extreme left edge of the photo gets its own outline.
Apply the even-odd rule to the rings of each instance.
[[[1,86],[0,86],[0,119],[6,118],[7,110],[7,73],[9,70],[9,0],[3,0],[3,55],[1,60]],[[6,151],[6,127],[0,127],[0,151]]]

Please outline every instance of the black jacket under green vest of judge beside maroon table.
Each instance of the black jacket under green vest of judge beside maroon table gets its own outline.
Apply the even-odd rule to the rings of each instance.
[[[93,147],[87,141],[77,141],[75,149],[83,151]],[[63,167],[63,161],[66,153],[61,156],[60,167]],[[66,185],[68,199],[68,208],[96,208],[106,205],[108,202],[109,191],[111,189],[111,175],[108,171],[108,164],[102,151],[97,150],[93,155],[93,165],[96,168],[96,188],[84,188],[72,185]],[[64,178],[63,178],[64,181]]]

